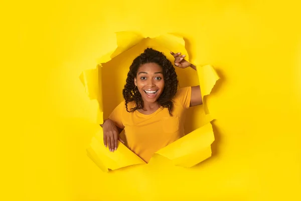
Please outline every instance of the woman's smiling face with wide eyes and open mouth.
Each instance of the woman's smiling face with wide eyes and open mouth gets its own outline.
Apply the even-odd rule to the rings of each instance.
[[[157,63],[145,63],[141,65],[134,79],[143,102],[155,103],[163,92],[163,70]]]

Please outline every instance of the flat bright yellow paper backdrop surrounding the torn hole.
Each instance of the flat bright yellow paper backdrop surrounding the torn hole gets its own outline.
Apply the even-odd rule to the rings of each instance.
[[[1,200],[299,200],[295,2],[3,4]],[[78,76],[115,48],[117,31],[180,34],[193,63],[218,71],[212,158],[187,169],[158,157],[107,174],[86,156],[96,113]]]

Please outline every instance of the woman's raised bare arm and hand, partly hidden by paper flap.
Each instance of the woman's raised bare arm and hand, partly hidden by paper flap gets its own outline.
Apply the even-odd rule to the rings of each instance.
[[[191,67],[192,69],[197,70],[197,67],[195,65],[191,64],[190,62],[188,62],[184,59],[184,57],[186,55],[181,55],[180,52],[178,52],[176,54],[171,52],[171,54],[175,57],[175,65],[178,66],[179,68]],[[199,106],[202,104],[203,104],[203,100],[202,100],[202,92],[201,92],[200,85],[192,86],[191,87],[190,107]]]

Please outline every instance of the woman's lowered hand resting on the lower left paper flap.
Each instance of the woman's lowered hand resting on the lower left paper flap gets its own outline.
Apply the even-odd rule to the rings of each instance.
[[[119,137],[119,131],[112,120],[105,120],[101,125],[103,129],[103,143],[105,147],[109,147],[111,152],[117,150],[117,140],[124,143]]]

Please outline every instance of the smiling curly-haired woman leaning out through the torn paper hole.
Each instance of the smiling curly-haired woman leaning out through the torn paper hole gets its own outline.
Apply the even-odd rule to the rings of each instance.
[[[196,67],[181,53],[171,54],[180,68]],[[114,152],[125,130],[128,148],[145,162],[159,149],[184,136],[185,111],[202,104],[200,86],[178,88],[167,57],[147,48],[133,60],[123,89],[124,101],[101,125],[104,145]]]

